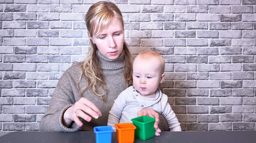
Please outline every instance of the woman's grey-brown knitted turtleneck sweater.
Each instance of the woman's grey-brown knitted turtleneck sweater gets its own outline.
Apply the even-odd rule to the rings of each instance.
[[[101,100],[100,97],[94,94],[91,89],[83,92],[83,97],[93,102],[101,111],[102,116],[98,119],[92,117],[91,122],[82,120],[83,126],[79,128],[76,123],[71,123],[67,128],[62,123],[62,117],[67,108],[74,105],[80,100],[79,89],[76,83],[80,77],[80,64],[77,63],[71,66],[59,79],[58,85],[53,92],[52,100],[49,107],[43,116],[40,123],[41,131],[62,131],[75,132],[77,130],[93,130],[94,126],[106,126],[109,111],[118,97],[118,95],[127,88],[124,79],[124,52],[116,60],[109,60],[97,51],[98,58],[101,63],[101,69],[105,77],[107,97],[106,100]],[[79,86],[80,89],[85,87],[87,81],[85,77],[82,78]]]

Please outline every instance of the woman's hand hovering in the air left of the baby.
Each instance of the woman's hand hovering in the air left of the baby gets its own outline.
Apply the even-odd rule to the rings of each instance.
[[[83,123],[79,120],[79,117],[90,122],[92,117],[98,119],[99,116],[102,116],[102,114],[96,105],[82,97],[72,107],[65,111],[63,116],[63,123],[68,127],[70,126],[71,122],[74,121],[78,126],[82,127]]]

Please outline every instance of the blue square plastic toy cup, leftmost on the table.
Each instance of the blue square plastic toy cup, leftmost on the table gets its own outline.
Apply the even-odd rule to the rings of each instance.
[[[113,131],[112,126],[94,127],[96,143],[111,143]]]

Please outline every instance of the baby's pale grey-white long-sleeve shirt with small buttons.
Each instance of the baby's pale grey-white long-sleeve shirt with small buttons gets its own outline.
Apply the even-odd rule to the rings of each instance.
[[[143,108],[152,108],[162,114],[171,131],[181,131],[180,123],[168,103],[167,95],[162,94],[158,89],[155,98],[143,97],[135,90],[134,86],[129,86],[116,98],[109,112],[107,125],[116,130],[115,124],[117,123],[132,123],[131,119],[137,117],[137,112]]]

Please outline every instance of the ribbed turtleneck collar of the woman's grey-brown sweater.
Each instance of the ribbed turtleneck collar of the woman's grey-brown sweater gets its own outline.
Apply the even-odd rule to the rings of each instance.
[[[117,70],[125,66],[124,51],[115,60],[110,60],[109,58],[104,57],[100,51],[97,51],[97,56],[101,63],[101,69],[103,70]]]

